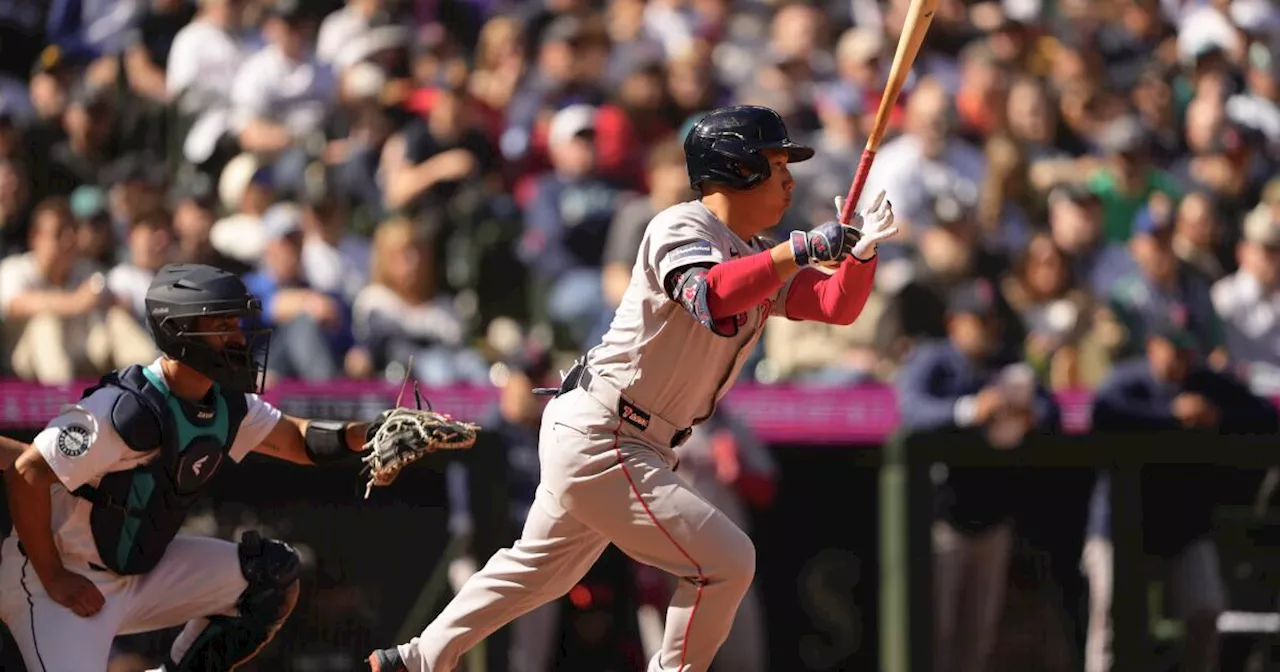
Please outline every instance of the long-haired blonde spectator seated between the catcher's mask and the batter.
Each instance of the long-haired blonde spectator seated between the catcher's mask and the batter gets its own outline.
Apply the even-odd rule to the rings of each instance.
[[[433,238],[407,219],[374,233],[370,284],[353,308],[360,357],[369,371],[396,376],[413,360],[425,385],[479,384],[489,365],[470,349],[467,328],[452,297],[436,291]],[[403,369],[399,369],[403,371]]]

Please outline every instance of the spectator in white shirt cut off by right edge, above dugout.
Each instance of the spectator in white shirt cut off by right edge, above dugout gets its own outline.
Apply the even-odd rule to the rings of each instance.
[[[1266,204],[1244,220],[1240,269],[1213,285],[1226,348],[1254,394],[1280,392],[1280,214]]]

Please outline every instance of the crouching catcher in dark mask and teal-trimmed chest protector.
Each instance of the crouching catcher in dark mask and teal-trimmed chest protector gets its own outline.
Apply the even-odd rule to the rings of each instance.
[[[116,635],[183,623],[161,671],[253,658],[293,609],[298,556],[252,531],[180,535],[187,512],[228,462],[355,458],[392,412],[305,420],[264,401],[269,330],[247,326],[260,307],[236,275],[165,266],[146,308],[163,356],[102,378],[5,471],[15,534],[0,549],[0,618],[31,672],[105,669]]]

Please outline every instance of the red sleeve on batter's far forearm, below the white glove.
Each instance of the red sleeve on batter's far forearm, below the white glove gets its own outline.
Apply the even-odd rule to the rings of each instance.
[[[786,297],[786,315],[792,320],[827,324],[854,324],[867,305],[876,283],[876,260],[860,262],[850,257],[836,273],[827,275],[817,269],[801,269],[791,280]]]

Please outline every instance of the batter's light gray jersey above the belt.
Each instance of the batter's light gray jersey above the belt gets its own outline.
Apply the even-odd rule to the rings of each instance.
[[[737,237],[700,201],[659,212],[645,230],[609,332],[588,353],[591,370],[613,383],[644,410],[677,428],[710,417],[733,387],[742,364],[759,340],[790,283],[736,319],[731,337],[712,333],[667,294],[677,270],[718,264],[768,250],[760,238]]]

